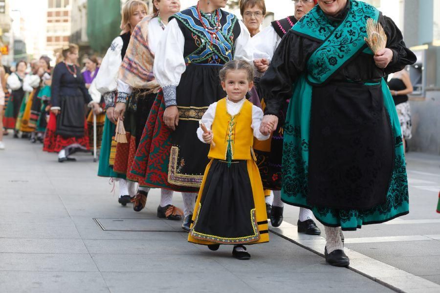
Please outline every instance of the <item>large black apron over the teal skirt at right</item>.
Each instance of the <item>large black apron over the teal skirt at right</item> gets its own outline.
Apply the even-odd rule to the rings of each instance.
[[[314,87],[310,116],[308,204],[370,209],[386,201],[394,136],[382,87]]]

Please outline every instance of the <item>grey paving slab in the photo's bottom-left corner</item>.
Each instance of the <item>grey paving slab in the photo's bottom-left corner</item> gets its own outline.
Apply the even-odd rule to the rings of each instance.
[[[99,272],[1,272],[2,293],[110,293]]]

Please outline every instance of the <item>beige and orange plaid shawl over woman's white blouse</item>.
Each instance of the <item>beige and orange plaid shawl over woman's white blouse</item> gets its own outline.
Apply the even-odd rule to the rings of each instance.
[[[148,24],[156,16],[146,16],[136,25],[119,69],[119,79],[133,88],[147,88],[147,83],[154,80],[154,54],[148,44]]]

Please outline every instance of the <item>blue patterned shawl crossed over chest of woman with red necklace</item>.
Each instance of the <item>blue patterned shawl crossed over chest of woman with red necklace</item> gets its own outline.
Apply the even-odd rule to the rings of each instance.
[[[219,10],[221,29],[216,33],[216,39],[212,43],[211,35],[198,20],[197,8],[195,6],[173,15],[174,18],[181,21],[201,40],[198,50],[185,57],[186,63],[201,63],[213,55],[217,55],[223,63],[231,61],[234,58],[233,29],[237,22],[237,17],[232,13],[221,9]],[[204,17],[204,14],[202,14],[201,21],[203,21],[207,27],[216,26],[215,20]]]

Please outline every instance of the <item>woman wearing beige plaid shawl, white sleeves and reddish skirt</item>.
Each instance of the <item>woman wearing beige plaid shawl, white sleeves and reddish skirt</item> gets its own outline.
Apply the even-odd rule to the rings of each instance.
[[[115,154],[115,161],[127,162],[126,166],[115,165],[113,168],[116,172],[125,173],[127,179],[139,183],[136,196],[132,200],[135,211],[145,208],[150,190],[149,186],[143,182],[142,176],[133,174],[130,170],[158,91],[158,84],[153,74],[154,55],[157,53],[158,43],[164,35],[169,17],[179,10],[179,0],[154,0],[154,14],[145,17],[135,27],[118,74],[118,99],[113,119],[123,120],[130,138],[128,140],[129,151],[116,148]],[[157,217],[180,221],[183,213],[174,207],[172,202],[173,192],[162,189]]]

